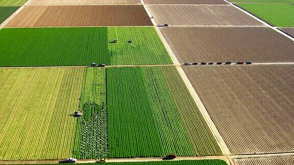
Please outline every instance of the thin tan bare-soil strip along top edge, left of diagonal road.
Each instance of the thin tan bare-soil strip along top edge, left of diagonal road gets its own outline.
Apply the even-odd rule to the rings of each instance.
[[[29,5],[140,5],[140,0],[32,0]]]

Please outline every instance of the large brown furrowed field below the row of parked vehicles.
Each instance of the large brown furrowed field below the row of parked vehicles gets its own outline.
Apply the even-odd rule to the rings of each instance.
[[[294,151],[294,65],[183,69],[233,154]]]

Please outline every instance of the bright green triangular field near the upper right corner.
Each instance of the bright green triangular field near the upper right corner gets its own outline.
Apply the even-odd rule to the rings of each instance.
[[[294,26],[294,5],[292,4],[238,4],[238,6],[275,26]]]

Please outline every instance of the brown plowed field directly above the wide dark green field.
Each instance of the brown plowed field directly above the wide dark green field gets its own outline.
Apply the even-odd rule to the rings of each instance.
[[[140,5],[26,6],[6,27],[146,25],[153,24]]]

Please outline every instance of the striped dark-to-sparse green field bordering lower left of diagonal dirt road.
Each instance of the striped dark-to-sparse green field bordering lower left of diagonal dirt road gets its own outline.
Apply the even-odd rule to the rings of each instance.
[[[221,154],[176,68],[107,68],[106,77],[109,157]]]

